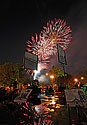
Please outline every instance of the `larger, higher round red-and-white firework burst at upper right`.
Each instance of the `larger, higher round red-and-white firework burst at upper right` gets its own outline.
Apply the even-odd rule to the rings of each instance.
[[[43,27],[41,40],[46,41],[50,45],[51,53],[55,54],[57,52],[57,44],[66,50],[72,39],[71,32],[70,26],[66,26],[64,20],[51,20],[47,22],[47,27]]]

